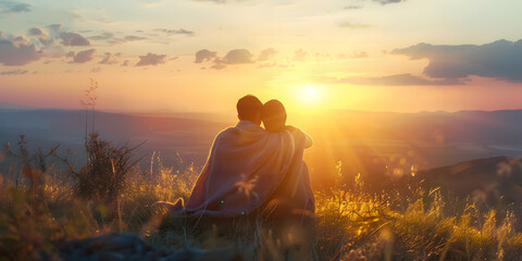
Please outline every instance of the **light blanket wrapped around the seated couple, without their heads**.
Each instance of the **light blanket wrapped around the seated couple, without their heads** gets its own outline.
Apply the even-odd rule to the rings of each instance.
[[[186,206],[189,215],[235,217],[262,211],[274,196],[313,213],[308,169],[302,161],[306,134],[299,129],[269,133],[240,121],[221,132]],[[288,201],[287,200],[287,201]]]

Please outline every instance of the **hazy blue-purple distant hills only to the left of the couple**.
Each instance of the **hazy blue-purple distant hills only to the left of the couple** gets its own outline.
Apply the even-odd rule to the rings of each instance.
[[[89,112],[90,113],[90,112]],[[136,146],[140,156],[161,151],[165,159],[176,158],[176,152],[186,156],[188,163],[202,164],[213,137],[226,124],[182,116],[132,115],[96,112],[95,132],[114,145]],[[91,132],[92,115],[86,117],[80,110],[0,110],[0,142],[16,144],[20,135],[26,137],[29,148],[73,149],[83,154],[87,132]],[[83,157],[78,157],[83,159]],[[169,160],[167,160],[169,161]]]

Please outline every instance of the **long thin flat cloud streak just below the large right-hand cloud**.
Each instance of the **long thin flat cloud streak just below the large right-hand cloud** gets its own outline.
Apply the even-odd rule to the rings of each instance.
[[[381,86],[426,86],[426,85],[463,85],[459,79],[425,79],[411,74],[395,74],[384,77],[346,77],[346,78],[320,78],[327,84],[351,85],[381,85]]]

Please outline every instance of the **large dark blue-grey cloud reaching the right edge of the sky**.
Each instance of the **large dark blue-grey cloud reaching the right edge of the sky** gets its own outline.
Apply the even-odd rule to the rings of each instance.
[[[461,79],[476,75],[522,82],[522,40],[498,40],[482,46],[419,44],[391,51],[412,60],[427,59],[424,74],[433,78]]]

